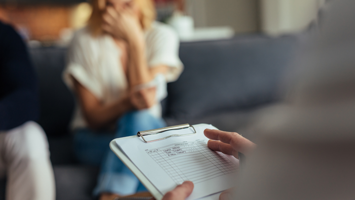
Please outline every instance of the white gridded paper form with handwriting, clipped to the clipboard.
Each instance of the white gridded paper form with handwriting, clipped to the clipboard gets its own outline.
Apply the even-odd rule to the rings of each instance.
[[[189,180],[194,190],[187,200],[203,198],[233,187],[236,183],[238,160],[207,146],[203,131],[216,129],[211,124],[194,125],[195,135],[170,137],[144,143],[135,137],[116,140],[118,147],[162,194]],[[171,134],[188,134],[191,129],[170,130],[152,135],[150,139]]]

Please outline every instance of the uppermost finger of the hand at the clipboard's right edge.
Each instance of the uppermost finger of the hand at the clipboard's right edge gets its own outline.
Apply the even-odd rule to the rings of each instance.
[[[230,144],[235,151],[246,155],[256,147],[253,142],[235,132],[205,129],[204,134],[212,140],[219,140],[223,143]]]

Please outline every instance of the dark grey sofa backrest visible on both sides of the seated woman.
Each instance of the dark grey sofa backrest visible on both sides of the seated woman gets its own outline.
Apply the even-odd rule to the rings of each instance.
[[[277,101],[278,84],[296,42],[295,37],[255,35],[181,43],[185,70],[168,84],[164,116],[196,119]],[[69,132],[74,98],[62,80],[66,53],[64,47],[30,49],[39,80],[38,123],[48,135]]]

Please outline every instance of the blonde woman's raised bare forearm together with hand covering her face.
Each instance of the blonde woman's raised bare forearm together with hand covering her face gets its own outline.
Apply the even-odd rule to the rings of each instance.
[[[113,7],[109,5],[103,14],[103,30],[115,39],[125,40],[128,44],[127,77],[130,88],[135,88],[137,85],[149,82],[154,78],[147,66],[144,32],[138,16],[139,14],[133,3],[130,6],[116,5]],[[142,97],[142,95],[138,96]],[[133,98],[139,99],[138,97]],[[142,108],[136,102],[133,100],[132,103],[137,108]]]

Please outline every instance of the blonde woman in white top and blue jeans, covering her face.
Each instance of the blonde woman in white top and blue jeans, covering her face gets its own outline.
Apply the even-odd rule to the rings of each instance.
[[[151,0],[93,0],[89,24],[71,43],[64,80],[77,97],[74,147],[83,163],[101,163],[101,200],[145,190],[109,151],[110,140],[165,125],[160,101],[182,72],[174,31],[155,22]]]

